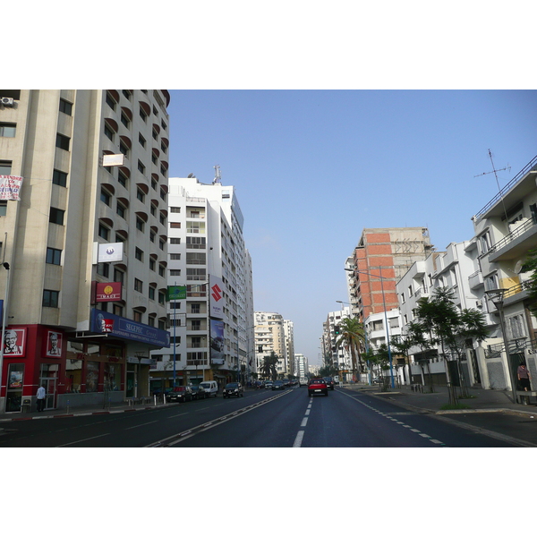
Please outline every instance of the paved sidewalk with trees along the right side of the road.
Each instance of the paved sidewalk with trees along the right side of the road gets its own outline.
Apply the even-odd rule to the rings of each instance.
[[[457,399],[460,405],[469,406],[465,410],[442,410],[442,406],[449,403],[447,386],[435,386],[434,393],[429,393],[429,387],[423,387],[423,393],[414,392],[409,386],[401,388],[389,388],[388,391],[381,391],[379,386],[368,386],[362,384],[345,384],[343,388],[367,392],[369,395],[386,398],[390,403],[409,407],[422,413],[449,414],[449,413],[485,413],[501,412],[514,413],[525,417],[534,415],[537,418],[537,405],[534,405],[534,398],[531,405],[520,405],[513,403],[510,391],[500,391],[494,389],[468,388],[471,396],[469,399]],[[457,395],[460,390],[456,388]]]

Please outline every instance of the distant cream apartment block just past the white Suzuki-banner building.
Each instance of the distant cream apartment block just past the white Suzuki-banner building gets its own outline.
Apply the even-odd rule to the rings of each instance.
[[[255,312],[255,350],[258,371],[260,371],[263,359],[274,352],[278,356],[278,375],[288,374],[284,324],[285,320],[279,313],[272,311]]]

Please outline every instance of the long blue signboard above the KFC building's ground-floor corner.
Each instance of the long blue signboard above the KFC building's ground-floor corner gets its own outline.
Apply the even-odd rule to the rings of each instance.
[[[168,331],[150,327],[135,320],[125,319],[107,311],[91,310],[90,331],[140,341],[158,347],[170,346],[170,333]]]

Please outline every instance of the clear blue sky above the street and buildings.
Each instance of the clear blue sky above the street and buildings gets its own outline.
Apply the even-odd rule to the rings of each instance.
[[[169,175],[219,165],[245,218],[256,311],[319,360],[364,227],[426,226],[438,251],[537,154],[534,90],[172,91]]]

